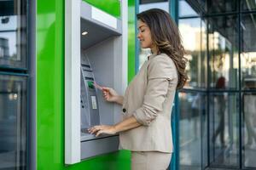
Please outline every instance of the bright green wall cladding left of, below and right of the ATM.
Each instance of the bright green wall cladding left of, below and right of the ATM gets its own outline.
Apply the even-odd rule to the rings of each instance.
[[[130,152],[64,165],[64,3],[37,1],[37,169],[129,170]],[[135,3],[129,1],[129,80],[135,72]],[[131,37],[131,39],[130,39]]]

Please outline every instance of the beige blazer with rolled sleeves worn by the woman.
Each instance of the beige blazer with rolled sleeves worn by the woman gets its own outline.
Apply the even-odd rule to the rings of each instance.
[[[150,55],[126,88],[123,118],[143,124],[119,133],[120,147],[133,151],[172,153],[171,115],[177,69],[166,54]]]

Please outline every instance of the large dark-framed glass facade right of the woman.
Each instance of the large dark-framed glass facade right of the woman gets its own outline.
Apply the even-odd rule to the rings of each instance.
[[[255,0],[179,0],[179,29],[189,59],[189,81],[184,91],[191,92],[179,94],[181,169],[200,168],[191,154],[193,147],[201,150],[203,168],[256,167],[255,10]],[[200,37],[196,37],[199,30]],[[201,47],[195,48],[195,44]],[[201,116],[200,148],[191,142],[195,132],[189,119],[195,113],[193,100],[204,88],[208,90],[208,117]]]

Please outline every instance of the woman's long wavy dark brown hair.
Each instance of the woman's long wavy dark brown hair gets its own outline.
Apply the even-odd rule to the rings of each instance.
[[[137,20],[141,20],[148,25],[152,40],[159,48],[159,52],[167,54],[173,60],[177,68],[177,88],[183,88],[188,79],[185,73],[188,59],[184,57],[185,50],[181,36],[170,14],[159,8],[151,8],[137,14]]]

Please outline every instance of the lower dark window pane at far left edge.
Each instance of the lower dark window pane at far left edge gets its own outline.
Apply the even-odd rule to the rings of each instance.
[[[0,84],[0,169],[26,169],[26,77]]]

